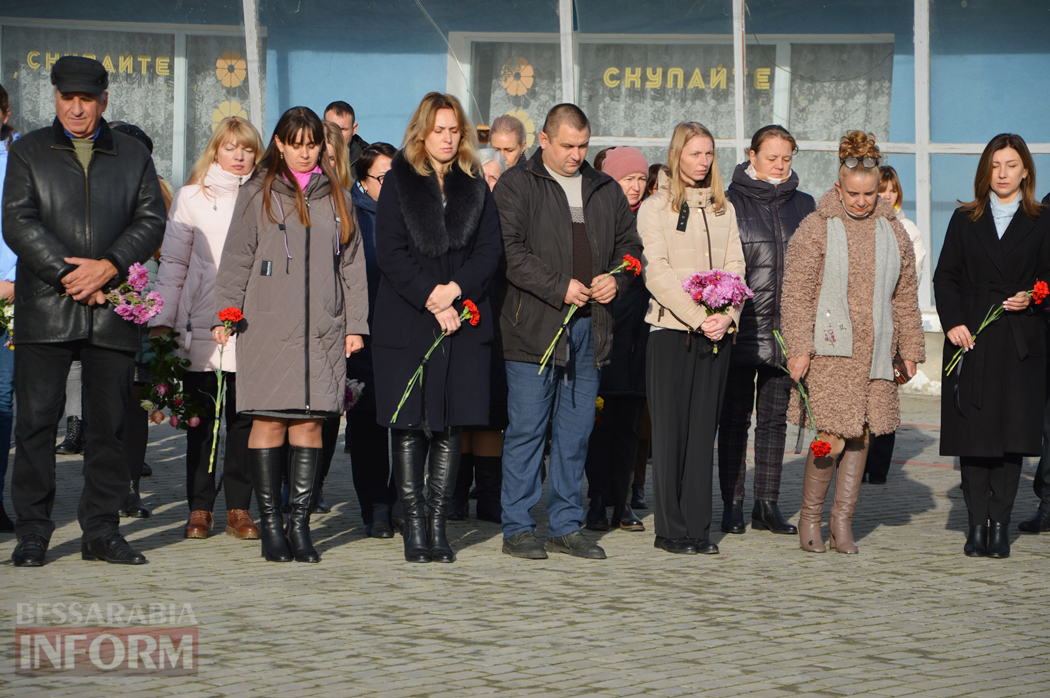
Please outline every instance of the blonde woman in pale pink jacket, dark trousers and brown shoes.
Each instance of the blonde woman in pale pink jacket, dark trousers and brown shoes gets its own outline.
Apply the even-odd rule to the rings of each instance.
[[[190,366],[185,375],[186,394],[196,403],[201,424],[186,432],[186,496],[190,517],[183,534],[206,538],[212,527],[222,470],[226,490],[226,532],[238,538],[257,538],[258,529],[248,513],[252,481],[248,471],[248,431],[251,419],[237,414],[234,389],[234,352],[223,356],[226,394],[226,460],[208,470],[217,390],[215,369],[218,346],[211,338],[215,300],[215,274],[226,244],[233,206],[240,185],[248,181],[262,143],[255,127],[244,119],[219,122],[197,158],[185,187],[175,192],[161,250],[156,290],[164,308],[150,321],[151,334],[178,333],[183,357]]]

